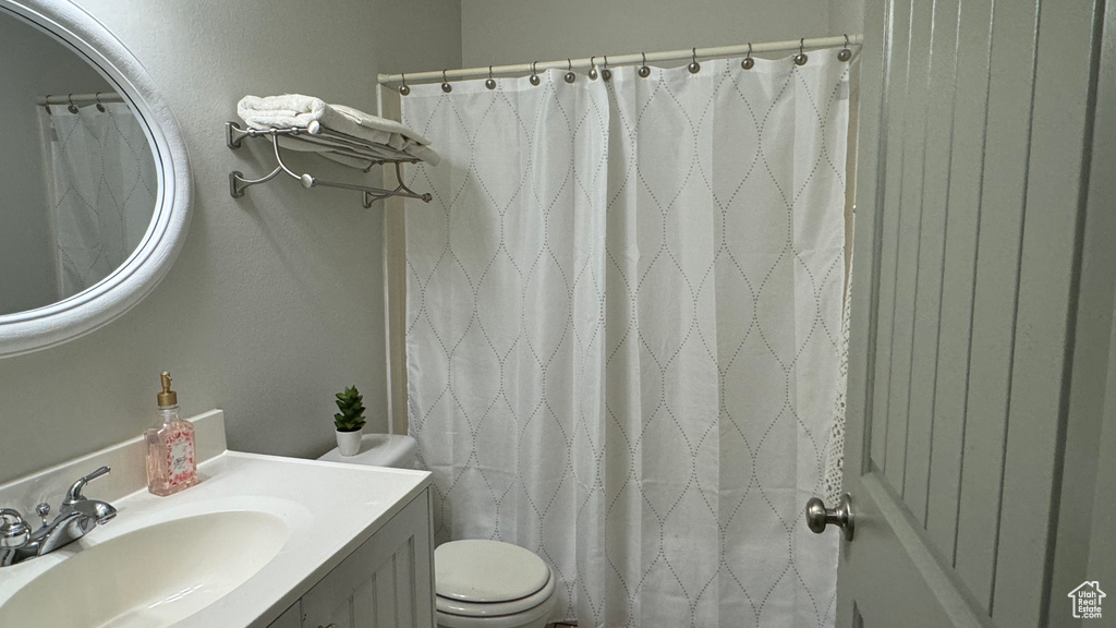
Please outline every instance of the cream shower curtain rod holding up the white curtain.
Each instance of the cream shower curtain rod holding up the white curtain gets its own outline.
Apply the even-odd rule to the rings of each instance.
[[[670,50],[666,53],[636,53],[634,55],[597,55],[595,57],[581,59],[561,59],[557,61],[537,61],[530,64],[518,64],[511,66],[472,67],[462,69],[445,69],[433,72],[416,72],[403,74],[381,74],[377,82],[381,85],[402,85],[404,83],[437,83],[444,80],[465,80],[470,78],[487,78],[488,76],[517,76],[548,69],[589,69],[594,65],[604,68],[606,60],[608,67],[629,66],[643,63],[662,61],[684,61],[695,57],[699,60],[738,57],[741,55],[752,55],[759,53],[788,53],[791,50],[818,50],[821,48],[836,48],[837,46],[856,46],[864,41],[863,35],[840,35],[837,37],[814,37],[804,39],[788,39],[786,41],[768,41],[763,44],[743,44],[740,46],[719,46],[714,48],[696,48],[685,50]]]

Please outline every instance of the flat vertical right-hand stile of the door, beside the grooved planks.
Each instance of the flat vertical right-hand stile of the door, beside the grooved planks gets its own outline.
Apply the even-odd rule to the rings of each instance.
[[[1049,417],[1066,415],[1062,406],[1070,384],[1067,361],[1072,352],[1067,348],[1072,342],[1070,316],[1085,219],[1081,155],[1091,140],[1085,131],[1091,113],[1093,64],[1087,59],[1095,45],[1093,21],[1094,7],[1088,2],[1045,3],[1041,12],[1028,153],[1028,180],[1041,184],[1027,185],[1011,374],[1022,386],[1011,388],[1008,482],[1000,506],[993,588],[992,617],[1002,626],[1021,626],[1039,613],[1047,591],[1048,574],[1030,565],[1038,548],[1052,550],[1057,485],[1051,478],[1061,474],[1066,426]],[[1049,516],[1019,516],[1036,505]]]

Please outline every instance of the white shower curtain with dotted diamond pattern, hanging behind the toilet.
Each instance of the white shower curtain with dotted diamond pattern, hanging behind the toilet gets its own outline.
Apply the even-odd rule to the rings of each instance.
[[[412,86],[411,432],[435,534],[538,553],[551,620],[834,621],[848,64]]]

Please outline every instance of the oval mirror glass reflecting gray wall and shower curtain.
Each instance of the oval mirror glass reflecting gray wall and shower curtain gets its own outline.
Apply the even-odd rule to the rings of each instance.
[[[0,59],[3,315],[66,299],[124,264],[152,222],[158,175],[144,127],[70,46],[0,11]]]

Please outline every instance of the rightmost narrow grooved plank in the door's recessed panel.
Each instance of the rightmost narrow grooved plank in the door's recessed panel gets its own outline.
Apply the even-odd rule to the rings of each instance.
[[[985,610],[992,605],[1012,383],[1036,26],[1033,2],[995,4],[955,565]]]

